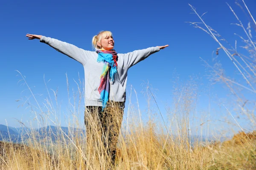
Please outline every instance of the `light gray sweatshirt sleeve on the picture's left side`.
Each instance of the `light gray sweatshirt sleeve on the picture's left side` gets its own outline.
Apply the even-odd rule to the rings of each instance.
[[[48,44],[58,52],[61,52],[62,54],[67,55],[70,58],[73,58],[82,65],[86,63],[86,58],[88,58],[87,56],[90,53],[90,51],[80,49],[77,46],[74,46],[70,43],[66,43],[50,37],[42,36],[40,42]]]

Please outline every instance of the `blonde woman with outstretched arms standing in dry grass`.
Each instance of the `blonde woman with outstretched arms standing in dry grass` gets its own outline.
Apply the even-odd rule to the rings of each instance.
[[[86,51],[42,35],[27,34],[26,37],[29,37],[29,40],[40,39],[40,42],[48,44],[84,66],[87,145],[98,143],[100,136],[106,153],[114,164],[125,106],[128,69],[169,45],[119,54],[113,49],[114,40],[109,31],[102,31],[93,37],[92,43],[96,51]],[[87,161],[89,159],[90,156]]]

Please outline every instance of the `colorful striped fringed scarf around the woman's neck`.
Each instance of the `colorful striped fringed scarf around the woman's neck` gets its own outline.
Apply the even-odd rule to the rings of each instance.
[[[102,102],[102,109],[107,106],[109,98],[110,81],[114,83],[114,75],[117,72],[117,53],[115,50],[97,50],[97,62],[104,63],[102,75],[100,76],[99,94]]]

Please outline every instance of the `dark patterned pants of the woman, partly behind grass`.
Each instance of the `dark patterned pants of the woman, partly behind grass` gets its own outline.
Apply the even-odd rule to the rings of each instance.
[[[115,107],[106,107],[104,111],[102,107],[87,106],[84,113],[87,146],[97,147],[100,141],[112,164],[115,164],[116,144],[124,112],[119,106],[118,103]],[[91,154],[95,149],[91,149]],[[104,154],[104,151],[101,154]]]

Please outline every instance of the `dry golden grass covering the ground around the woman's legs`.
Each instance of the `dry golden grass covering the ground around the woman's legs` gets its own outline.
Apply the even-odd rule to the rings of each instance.
[[[117,170],[125,169],[255,169],[256,132],[239,133],[232,140],[215,142],[205,147],[196,143],[188,147],[188,138],[180,141],[174,136],[157,135],[153,124],[121,137],[116,158]],[[248,138],[248,137],[249,138]],[[86,169],[85,159],[78,150],[73,153],[57,142],[58,149],[49,154],[45,147],[33,149],[28,144],[0,143],[0,168],[3,170],[26,169]],[[83,144],[77,144],[83,148]],[[52,146],[51,149],[53,149]],[[96,148],[95,148],[96,149]],[[95,151],[95,152],[99,152]],[[85,153],[85,150],[84,150]],[[108,169],[107,161],[90,159],[90,169]],[[87,167],[88,168],[88,167]],[[112,167],[113,168],[113,167]]]

